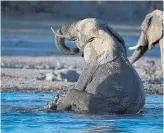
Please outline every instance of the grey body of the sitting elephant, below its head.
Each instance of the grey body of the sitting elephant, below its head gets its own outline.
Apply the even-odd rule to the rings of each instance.
[[[145,103],[141,81],[129,62],[121,57],[115,62],[86,65],[75,89],[59,98],[57,110],[89,113],[137,113]],[[82,82],[81,82],[82,81]],[[83,86],[85,82],[86,87]]]

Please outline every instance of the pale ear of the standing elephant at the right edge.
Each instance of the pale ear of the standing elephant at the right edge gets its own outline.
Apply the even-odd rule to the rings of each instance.
[[[163,26],[163,12],[156,10],[152,13],[146,15],[142,25],[141,30],[146,34],[149,48],[153,44],[157,43],[163,36],[162,27]]]

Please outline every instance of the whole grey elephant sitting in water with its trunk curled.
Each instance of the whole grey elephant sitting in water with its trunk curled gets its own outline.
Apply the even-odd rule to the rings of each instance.
[[[145,104],[143,84],[130,64],[122,37],[106,22],[86,18],[54,33],[66,55],[84,53],[84,68],[73,89],[57,95],[44,108],[77,113],[135,114]],[[67,39],[75,48],[65,45]]]

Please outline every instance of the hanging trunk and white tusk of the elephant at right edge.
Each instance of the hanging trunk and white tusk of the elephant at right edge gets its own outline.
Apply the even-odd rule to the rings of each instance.
[[[130,63],[133,64],[141,56],[145,54],[148,49],[148,40],[143,32],[141,32],[140,39],[136,46],[129,47],[130,50],[134,50],[133,55],[130,57]]]

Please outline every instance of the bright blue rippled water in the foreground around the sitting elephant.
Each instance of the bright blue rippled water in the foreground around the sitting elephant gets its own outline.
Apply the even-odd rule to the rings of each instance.
[[[137,115],[89,115],[64,112],[22,112],[45,105],[55,93],[3,92],[2,133],[162,133],[161,96],[147,95]]]

